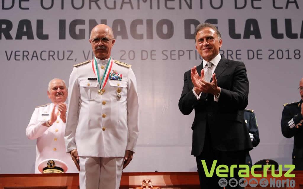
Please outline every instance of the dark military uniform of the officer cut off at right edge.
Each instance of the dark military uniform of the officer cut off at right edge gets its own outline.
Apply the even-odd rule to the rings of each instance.
[[[282,134],[286,138],[294,137],[292,164],[295,170],[303,170],[303,117],[301,115],[302,100],[284,104],[281,119]]]

